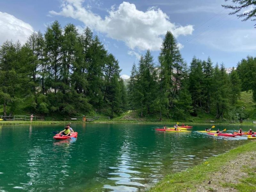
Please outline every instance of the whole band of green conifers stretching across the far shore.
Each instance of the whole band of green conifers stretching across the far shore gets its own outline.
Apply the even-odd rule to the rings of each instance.
[[[74,116],[97,110],[111,118],[127,110],[138,116],[188,119],[198,113],[216,119],[248,118],[237,105],[241,91],[256,101],[256,58],[248,56],[226,72],[210,57],[182,58],[177,40],[167,31],[158,58],[150,50],[133,63],[128,84],[119,61],[93,35],[58,21],[43,34],[34,32],[21,45],[5,41],[0,48],[0,107],[4,116],[36,113]],[[255,107],[255,106],[254,106]]]

